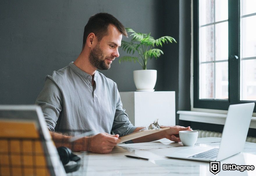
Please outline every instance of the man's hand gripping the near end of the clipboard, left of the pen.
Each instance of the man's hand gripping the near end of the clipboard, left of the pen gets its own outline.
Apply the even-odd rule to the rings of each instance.
[[[120,143],[119,135],[111,135],[108,133],[99,133],[88,138],[87,151],[93,153],[109,153],[116,144]]]

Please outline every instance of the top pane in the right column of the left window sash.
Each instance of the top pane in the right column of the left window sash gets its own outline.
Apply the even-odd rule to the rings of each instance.
[[[227,20],[227,0],[215,0],[215,22]]]

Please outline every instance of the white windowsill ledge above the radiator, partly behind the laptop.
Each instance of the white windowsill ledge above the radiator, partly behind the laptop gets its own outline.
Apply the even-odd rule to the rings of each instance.
[[[226,114],[206,113],[196,111],[177,111],[179,120],[187,120],[192,122],[204,122],[212,124],[225,124]],[[252,117],[250,128],[256,128],[256,117]]]

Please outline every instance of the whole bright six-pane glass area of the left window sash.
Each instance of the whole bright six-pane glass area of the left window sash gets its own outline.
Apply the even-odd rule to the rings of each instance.
[[[228,1],[199,0],[199,99],[228,98]]]

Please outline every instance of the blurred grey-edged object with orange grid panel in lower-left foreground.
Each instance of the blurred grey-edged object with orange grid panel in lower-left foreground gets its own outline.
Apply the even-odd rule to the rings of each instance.
[[[0,105],[0,148],[3,175],[66,175],[37,105]]]

